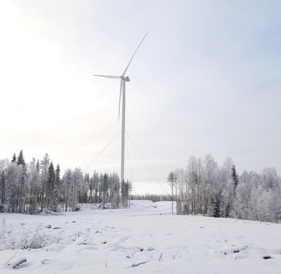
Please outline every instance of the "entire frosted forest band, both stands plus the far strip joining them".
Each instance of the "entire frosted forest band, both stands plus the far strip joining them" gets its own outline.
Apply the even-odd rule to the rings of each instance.
[[[12,160],[0,160],[0,212],[38,214],[42,210],[75,211],[79,203],[128,208],[130,200],[172,201],[176,212],[210,217],[281,221],[280,177],[275,167],[262,173],[243,170],[239,175],[230,157],[222,166],[210,154],[203,160],[190,156],[185,169],[169,172],[171,194],[135,195],[132,183],[120,182],[115,172],[83,174],[81,168],[66,169],[48,154],[26,163],[22,150]],[[107,205],[106,205],[107,204]]]

